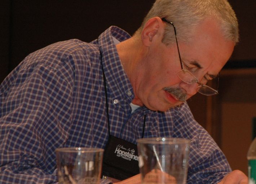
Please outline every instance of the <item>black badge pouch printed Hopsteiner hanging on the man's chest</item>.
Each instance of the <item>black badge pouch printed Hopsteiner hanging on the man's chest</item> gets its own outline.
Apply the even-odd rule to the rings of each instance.
[[[124,180],[139,172],[137,145],[110,135],[104,151],[102,175]]]

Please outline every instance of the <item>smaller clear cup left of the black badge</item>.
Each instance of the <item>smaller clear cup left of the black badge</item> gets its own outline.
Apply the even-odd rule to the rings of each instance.
[[[59,184],[100,183],[103,149],[57,148]]]

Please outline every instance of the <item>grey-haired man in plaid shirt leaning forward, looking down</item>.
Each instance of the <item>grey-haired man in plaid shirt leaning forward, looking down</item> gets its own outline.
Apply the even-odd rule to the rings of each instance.
[[[1,183],[55,183],[56,148],[107,150],[111,136],[191,139],[187,183],[247,183],[185,102],[217,93],[205,84],[237,41],[227,1],[157,0],[133,37],[112,26],[28,55],[0,86]]]

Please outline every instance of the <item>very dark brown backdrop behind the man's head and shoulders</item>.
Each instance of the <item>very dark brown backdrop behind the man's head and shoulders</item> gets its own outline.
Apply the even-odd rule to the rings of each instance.
[[[92,41],[111,25],[131,35],[154,0],[1,0],[0,82],[31,52],[57,41]],[[226,67],[255,67],[256,1],[230,0],[240,43]]]

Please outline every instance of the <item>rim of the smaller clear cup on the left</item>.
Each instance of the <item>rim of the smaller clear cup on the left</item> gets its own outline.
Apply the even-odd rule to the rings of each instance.
[[[87,147],[64,147],[64,148],[57,148],[56,152],[65,152],[65,153],[98,153],[104,152],[102,148],[87,148]]]

